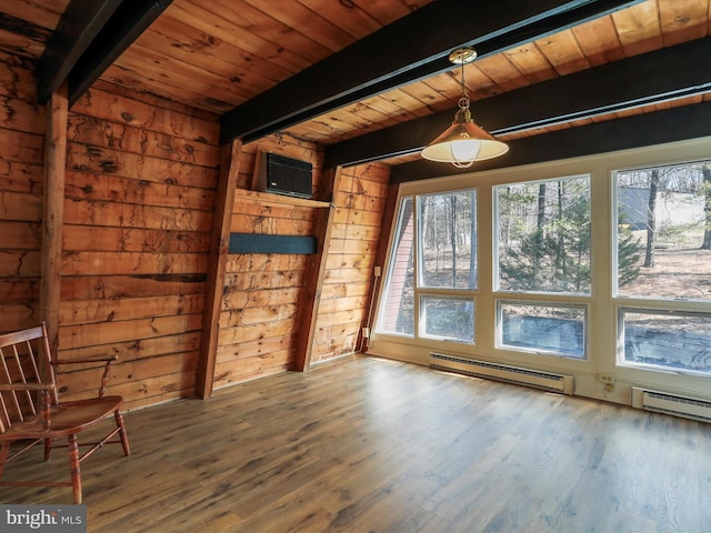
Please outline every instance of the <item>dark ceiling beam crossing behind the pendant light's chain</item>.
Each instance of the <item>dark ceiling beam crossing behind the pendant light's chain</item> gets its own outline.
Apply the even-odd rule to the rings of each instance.
[[[607,63],[472,102],[494,135],[660,103],[711,91],[711,37]],[[454,110],[360,135],[326,149],[324,165],[352,165],[414,153],[450,125]]]

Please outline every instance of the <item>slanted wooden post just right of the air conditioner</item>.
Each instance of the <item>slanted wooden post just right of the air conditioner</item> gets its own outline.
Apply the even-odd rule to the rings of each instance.
[[[336,191],[341,180],[341,167],[331,169],[332,199],[336,201]],[[326,273],[326,260],[328,258],[327,248],[331,241],[331,230],[333,228],[333,215],[336,205],[320,209],[317,212],[314,228],[317,231],[317,253],[311,258],[307,269],[307,280],[303,294],[299,298],[303,308],[301,309],[301,328],[297,341],[297,355],[294,366],[299,372],[306,372],[311,365],[311,353],[313,351],[313,336],[316,334],[317,319],[319,315],[319,304],[321,302],[321,285]]]

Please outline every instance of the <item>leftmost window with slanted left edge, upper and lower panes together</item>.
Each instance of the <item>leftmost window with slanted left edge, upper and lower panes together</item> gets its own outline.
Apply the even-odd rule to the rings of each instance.
[[[473,343],[475,191],[403,198],[385,275],[375,331]]]

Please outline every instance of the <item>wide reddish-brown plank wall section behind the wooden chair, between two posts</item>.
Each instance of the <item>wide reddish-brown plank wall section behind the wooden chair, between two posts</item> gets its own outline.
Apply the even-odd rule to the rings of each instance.
[[[194,392],[218,119],[98,84],[70,110],[58,359],[116,353],[138,408]],[[63,373],[69,398],[96,373]]]

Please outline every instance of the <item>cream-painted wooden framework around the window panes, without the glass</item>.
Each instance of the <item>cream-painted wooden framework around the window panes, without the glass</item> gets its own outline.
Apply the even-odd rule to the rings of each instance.
[[[677,372],[650,371],[630,368],[618,361],[618,310],[624,308],[650,308],[654,302],[634,298],[612,295],[612,279],[617,275],[613,268],[612,247],[617,245],[613,215],[617,217],[613,202],[613,170],[634,167],[669,165],[708,160],[711,155],[711,135],[688,141],[679,141],[653,147],[634,148],[617,152],[571,158],[560,161],[545,161],[519,167],[493,170],[473,170],[431,180],[403,181],[398,185],[398,198],[429,192],[449,192],[459,189],[477,188],[478,198],[478,291],[475,292],[475,344],[448,343],[430,339],[397,339],[373,331],[368,353],[395,360],[428,365],[430,353],[444,351],[453,356],[475,359],[487,362],[510,364],[544,372],[572,375],[575,380],[575,394],[604,399],[619,403],[630,403],[631,386],[652,390],[673,390],[711,401],[710,381],[707,376],[680,374]],[[540,300],[538,294],[511,294],[493,290],[492,259],[493,241],[493,201],[492,188],[498,184],[521,181],[549,180],[555,177],[587,174],[591,175],[591,283],[590,295],[558,295],[544,299],[550,303],[585,304],[589,308],[588,320],[588,360],[572,360],[555,355],[527,354],[495,345],[497,299],[515,299],[523,302]],[[392,233],[392,232],[391,232]],[[388,239],[392,235],[389,234]],[[390,247],[385,251],[385,262]],[[383,272],[384,273],[384,272]],[[668,302],[671,309],[711,312],[708,302]],[[382,305],[382,291],[377,295],[375,305]],[[372,331],[372,330],[371,330]],[[602,380],[600,376],[604,376]],[[610,381],[611,380],[611,381]]]

